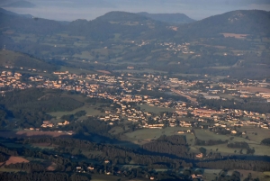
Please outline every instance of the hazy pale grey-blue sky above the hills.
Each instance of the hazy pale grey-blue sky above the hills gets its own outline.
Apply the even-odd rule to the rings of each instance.
[[[0,0],[0,6],[16,0]],[[270,11],[270,0],[27,0],[33,8],[4,9],[17,14],[58,21],[76,19],[93,20],[111,11],[130,13],[148,12],[155,14],[182,13],[201,20],[211,15],[233,10],[260,9]]]

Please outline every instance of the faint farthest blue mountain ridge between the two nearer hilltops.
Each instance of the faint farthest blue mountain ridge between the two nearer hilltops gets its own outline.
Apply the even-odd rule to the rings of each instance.
[[[148,18],[151,18],[153,20],[157,20],[160,22],[166,22],[166,23],[193,23],[195,20],[191,19],[185,14],[148,14],[146,12],[138,13],[140,15],[147,16]]]

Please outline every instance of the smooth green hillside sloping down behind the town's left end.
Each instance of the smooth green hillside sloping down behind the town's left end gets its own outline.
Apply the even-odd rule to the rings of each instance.
[[[57,66],[49,64],[41,59],[33,58],[27,54],[12,50],[0,50],[0,67],[34,68],[37,70],[54,71]]]

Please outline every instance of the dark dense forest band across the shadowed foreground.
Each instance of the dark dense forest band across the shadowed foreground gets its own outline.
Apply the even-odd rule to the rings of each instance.
[[[95,143],[89,140],[74,139],[74,138],[28,138],[28,139],[13,139],[8,140],[19,144],[20,149],[7,149],[4,145],[1,145],[0,152],[1,158],[8,156],[23,156],[28,158],[41,158],[47,159],[57,164],[56,170],[53,172],[47,172],[46,167],[40,163],[29,162],[29,163],[18,163],[5,166],[6,168],[13,168],[27,171],[28,173],[18,172],[17,174],[3,173],[1,174],[0,180],[6,178],[10,180],[16,180],[18,177],[22,180],[40,179],[66,179],[66,180],[83,180],[90,179],[93,174],[101,174],[106,170],[112,170],[112,172],[119,173],[118,176],[129,176],[129,178],[155,176],[159,177],[160,180],[186,180],[188,176],[195,173],[193,169],[187,167],[202,167],[202,168],[220,168],[220,169],[247,169],[255,171],[265,171],[269,169],[269,162],[267,161],[255,161],[245,159],[216,159],[216,160],[197,160],[194,159],[182,159],[175,158],[172,155],[163,154],[163,151],[149,151],[144,148],[141,149],[128,149],[119,147],[112,144]],[[177,146],[185,146],[184,136],[161,136],[156,140],[160,144],[172,145],[171,154],[176,154],[174,149]],[[46,143],[53,145],[54,149],[27,149],[27,145]],[[74,152],[74,149],[79,151]],[[147,148],[154,148],[147,147]],[[157,147],[158,148],[158,145]],[[179,147],[180,148],[180,147]],[[87,154],[82,150],[87,150]],[[95,154],[98,151],[100,154]],[[57,154],[57,155],[56,155]],[[75,154],[75,155],[73,155]],[[180,155],[179,155],[180,156]],[[4,158],[6,159],[6,158]],[[110,163],[104,165],[104,160],[110,160]],[[81,160],[81,161],[80,161]],[[89,162],[90,161],[90,162]],[[123,169],[118,165],[138,164],[139,167],[132,169]],[[93,171],[86,171],[83,175],[75,174],[76,167],[82,167],[87,170],[87,167],[94,167]],[[176,176],[171,171],[166,172],[155,172],[153,168],[183,168],[186,167],[182,175]],[[45,171],[45,172],[44,172]],[[120,172],[119,172],[120,171]],[[61,175],[65,172],[65,175]],[[60,174],[61,173],[61,174]],[[197,173],[199,174],[199,173]],[[44,176],[42,179],[39,176]],[[64,177],[63,177],[64,176]],[[81,177],[82,176],[82,177]],[[50,178],[51,177],[51,178]],[[55,178],[54,178],[55,177]],[[161,179],[162,178],[162,179]]]

